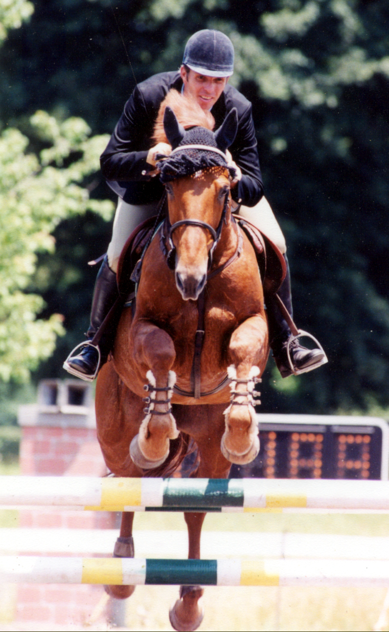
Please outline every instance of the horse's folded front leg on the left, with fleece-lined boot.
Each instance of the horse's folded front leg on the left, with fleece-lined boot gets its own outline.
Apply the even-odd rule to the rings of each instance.
[[[133,463],[142,470],[159,467],[166,461],[170,439],[178,437],[171,414],[171,396],[176,381],[171,370],[176,353],[171,337],[147,320],[133,327],[134,360],[145,376],[145,417],[130,445]]]

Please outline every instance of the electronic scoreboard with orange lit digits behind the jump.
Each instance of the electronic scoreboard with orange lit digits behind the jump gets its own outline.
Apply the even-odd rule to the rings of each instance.
[[[388,480],[389,426],[363,416],[258,414],[259,454],[230,478]]]

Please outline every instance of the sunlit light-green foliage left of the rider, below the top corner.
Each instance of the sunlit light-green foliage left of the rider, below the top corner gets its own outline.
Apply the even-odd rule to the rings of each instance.
[[[82,119],[59,125],[43,111],[30,124],[48,145],[39,157],[26,152],[28,138],[19,130],[8,128],[0,137],[0,379],[5,381],[27,379],[64,333],[60,315],[36,319],[44,307],[42,296],[25,292],[37,252],[54,252],[51,233],[63,219],[87,210],[105,217],[112,212],[109,201],[91,200],[78,184],[98,169],[107,138],[88,138]]]

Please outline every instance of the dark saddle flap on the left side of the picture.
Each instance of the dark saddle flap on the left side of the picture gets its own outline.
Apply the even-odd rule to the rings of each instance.
[[[137,265],[147,241],[154,229],[156,216],[145,219],[142,224],[130,234],[128,240],[121,251],[118,264],[118,288],[121,295],[128,294],[133,289],[133,281],[131,280],[132,271]]]

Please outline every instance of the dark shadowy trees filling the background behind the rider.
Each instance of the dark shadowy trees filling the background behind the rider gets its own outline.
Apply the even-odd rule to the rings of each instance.
[[[37,109],[81,116],[111,133],[136,82],[178,68],[187,38],[219,28],[233,40],[232,83],[253,104],[268,197],[285,231],[295,320],[329,363],[281,380],[269,362],[262,411],[331,413],[389,406],[388,97],[385,0],[36,0],[30,23],[0,50],[0,118],[27,132]],[[32,147],[37,140],[30,136]],[[34,144],[35,143],[35,144]],[[87,185],[110,197],[99,174]],[[111,198],[113,199],[113,198]],[[39,377],[85,331],[96,269],[111,227],[101,218],[58,226],[30,290],[44,315],[65,315]]]

